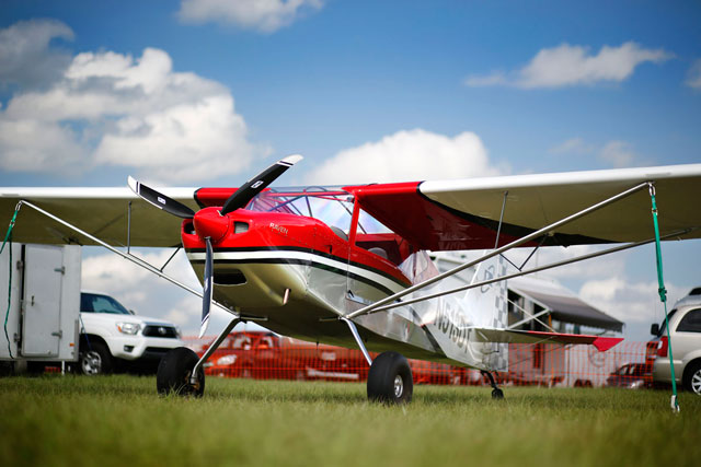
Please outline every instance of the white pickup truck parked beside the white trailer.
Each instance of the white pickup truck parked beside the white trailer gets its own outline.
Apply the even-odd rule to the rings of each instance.
[[[95,375],[126,369],[154,372],[161,357],[182,346],[174,324],[136,316],[110,295],[81,292],[80,373]]]

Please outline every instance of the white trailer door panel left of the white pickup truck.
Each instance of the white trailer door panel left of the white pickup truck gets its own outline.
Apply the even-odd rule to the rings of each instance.
[[[25,357],[58,357],[62,264],[60,246],[25,246],[22,319]]]

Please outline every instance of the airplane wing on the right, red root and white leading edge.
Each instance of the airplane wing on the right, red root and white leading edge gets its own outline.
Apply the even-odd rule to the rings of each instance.
[[[701,226],[701,164],[345,187],[376,219],[422,249],[493,248],[641,183],[654,182],[660,234]],[[506,198],[506,202],[504,202]],[[563,225],[543,245],[654,236],[647,189]],[[682,235],[701,237],[701,230]],[[539,244],[535,241],[530,245]]]

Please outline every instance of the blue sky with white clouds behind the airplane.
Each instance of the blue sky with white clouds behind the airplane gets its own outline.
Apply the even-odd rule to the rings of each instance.
[[[699,163],[699,24],[694,1],[2,0],[0,186],[239,186],[292,153],[279,184]],[[198,299],[83,249],[83,287],[196,332]],[[663,255],[674,303],[701,244]],[[652,247],[549,277],[629,339],[663,316]]]

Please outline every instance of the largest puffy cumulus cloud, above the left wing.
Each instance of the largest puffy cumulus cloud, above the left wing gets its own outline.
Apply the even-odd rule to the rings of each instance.
[[[51,37],[67,34],[61,25],[33,27]],[[0,110],[0,137],[5,171],[118,165],[161,183],[233,175],[269,152],[249,141],[223,85],[174,71],[169,54],[156,48],[137,58],[108,50],[74,56],[46,89],[12,96]]]

